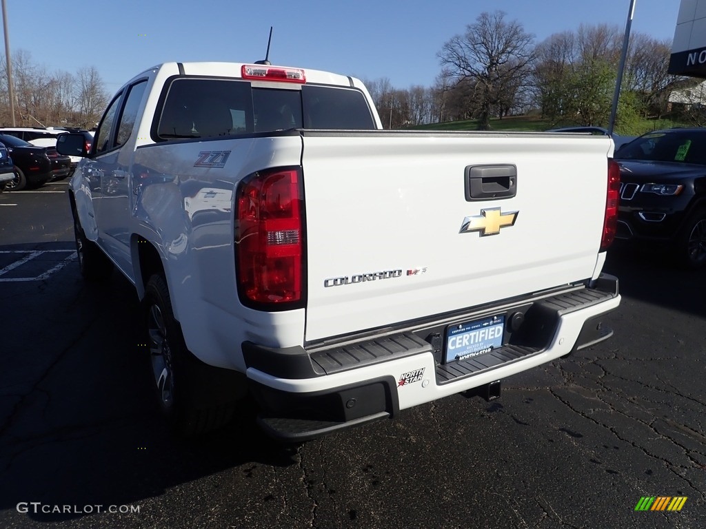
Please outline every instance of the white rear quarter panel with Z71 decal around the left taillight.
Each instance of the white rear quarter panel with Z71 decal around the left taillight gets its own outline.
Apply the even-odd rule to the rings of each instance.
[[[204,152],[229,152],[203,167]],[[262,312],[239,302],[235,276],[234,190],[271,166],[298,165],[299,135],[165,142],[136,150],[133,233],[154,241],[189,349],[219,367],[244,370],[240,343],[301,345],[304,309]]]

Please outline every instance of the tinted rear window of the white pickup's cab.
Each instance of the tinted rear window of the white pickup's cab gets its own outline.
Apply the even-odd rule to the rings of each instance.
[[[172,79],[163,93],[155,140],[214,138],[290,128],[373,130],[363,92],[297,85],[253,87],[232,79]]]

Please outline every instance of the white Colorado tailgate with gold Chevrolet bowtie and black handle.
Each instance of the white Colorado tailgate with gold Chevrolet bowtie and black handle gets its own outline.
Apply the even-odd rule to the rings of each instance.
[[[306,131],[303,141],[306,341],[513,298],[594,272],[607,138]],[[496,184],[493,174],[513,166],[515,196],[467,197],[469,178],[497,189],[508,179]],[[508,225],[499,227],[500,220]]]

